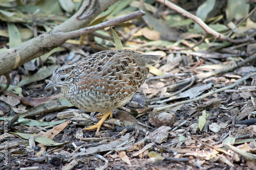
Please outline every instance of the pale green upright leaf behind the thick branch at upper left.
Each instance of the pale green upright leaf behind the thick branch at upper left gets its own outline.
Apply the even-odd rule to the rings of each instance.
[[[20,37],[19,31],[14,23],[7,22],[8,32],[9,32],[9,43],[10,48],[17,46],[22,43],[22,38]]]

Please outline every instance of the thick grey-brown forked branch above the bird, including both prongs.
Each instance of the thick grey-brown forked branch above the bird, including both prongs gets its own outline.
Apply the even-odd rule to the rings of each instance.
[[[113,3],[115,1],[117,0],[113,0]],[[0,54],[0,76],[6,75],[7,72],[17,68],[18,66],[23,65],[24,63],[51,51],[53,48],[60,46],[70,38],[75,38],[77,36],[88,34],[106,27],[112,27],[112,26],[118,25],[119,23],[123,23],[125,21],[129,21],[131,19],[135,19],[137,17],[145,15],[144,11],[136,11],[131,14],[128,14],[110,21],[100,23],[95,26],[83,28],[76,31],[71,31],[70,28],[67,28],[68,26],[70,26],[70,24],[74,25],[75,23],[77,23],[78,25],[78,26],[74,26],[75,29],[77,29],[78,27],[83,27],[84,23],[88,25],[93,18],[90,16],[89,19],[87,19],[86,15],[95,15],[95,13],[99,13],[99,10],[101,12],[102,10],[105,10],[105,8],[102,7],[101,9],[101,7],[99,6],[99,4],[101,4],[102,6],[104,2],[108,2],[107,4],[110,4],[109,3],[110,1],[102,0],[101,3],[98,3],[98,1],[92,0],[91,3],[93,4],[89,4],[89,5],[85,4],[81,8],[83,10],[79,10],[80,12],[82,11],[82,13],[78,12],[77,14],[72,16],[72,19],[82,18],[82,20],[80,20],[79,22],[77,21],[77,19],[75,19],[75,21],[72,19],[71,20],[69,19],[70,20],[69,24],[64,22],[63,25],[61,24],[57,26],[50,33],[39,35],[38,37],[35,37],[18,46],[15,46],[14,48],[7,50],[6,52],[1,53]],[[89,10],[86,12],[86,14],[84,14],[85,9]],[[97,15],[95,15],[94,17],[96,16]]]

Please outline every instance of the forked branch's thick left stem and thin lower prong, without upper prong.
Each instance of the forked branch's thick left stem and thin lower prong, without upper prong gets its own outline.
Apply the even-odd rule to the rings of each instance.
[[[97,30],[104,29],[106,27],[113,27],[120,23],[135,19],[137,17],[145,15],[145,12],[142,10],[115,18],[113,20],[105,21],[99,23],[98,25],[83,28],[76,31],[71,32],[61,32],[61,31],[53,31],[50,33],[45,33],[30,39],[20,45],[17,45],[0,55],[0,76],[9,74],[9,71],[17,68],[24,63],[37,58],[56,46],[62,45],[68,39],[75,38],[81,36],[83,34],[89,34],[95,32]],[[55,29],[54,29],[55,30]],[[27,50],[24,50],[27,49]]]

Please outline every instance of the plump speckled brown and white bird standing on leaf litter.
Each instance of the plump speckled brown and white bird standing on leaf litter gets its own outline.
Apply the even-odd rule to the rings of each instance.
[[[146,64],[157,58],[131,50],[102,51],[56,69],[46,89],[60,87],[84,111],[112,113],[132,99],[148,75]]]

